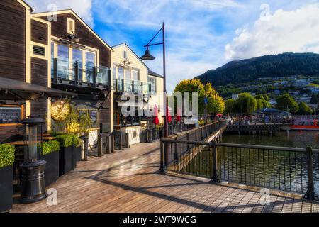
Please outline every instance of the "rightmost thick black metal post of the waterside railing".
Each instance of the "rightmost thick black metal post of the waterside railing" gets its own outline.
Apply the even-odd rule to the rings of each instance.
[[[310,201],[318,199],[315,195],[315,187],[313,184],[313,148],[306,148],[306,156],[307,156],[307,173],[308,173],[308,189],[305,194],[305,199]]]

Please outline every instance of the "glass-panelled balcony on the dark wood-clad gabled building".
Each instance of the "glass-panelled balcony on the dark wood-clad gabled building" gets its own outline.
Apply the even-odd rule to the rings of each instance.
[[[111,74],[108,67],[82,65],[55,58],[52,62],[52,83],[76,87],[108,89]]]

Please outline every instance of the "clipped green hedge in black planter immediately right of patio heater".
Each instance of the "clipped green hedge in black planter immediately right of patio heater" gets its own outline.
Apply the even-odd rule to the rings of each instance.
[[[59,178],[59,151],[60,143],[57,140],[51,140],[43,143],[43,160],[45,165],[45,186],[56,182]]]

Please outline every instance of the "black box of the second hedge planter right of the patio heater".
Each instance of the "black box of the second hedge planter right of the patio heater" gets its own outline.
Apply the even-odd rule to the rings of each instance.
[[[74,170],[74,151],[73,146],[60,148],[59,152],[59,176],[65,175],[66,172]]]

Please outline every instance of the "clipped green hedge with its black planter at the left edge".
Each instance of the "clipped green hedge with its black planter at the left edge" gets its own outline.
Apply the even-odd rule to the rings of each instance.
[[[0,144],[0,212],[12,209],[14,152],[12,145]]]

